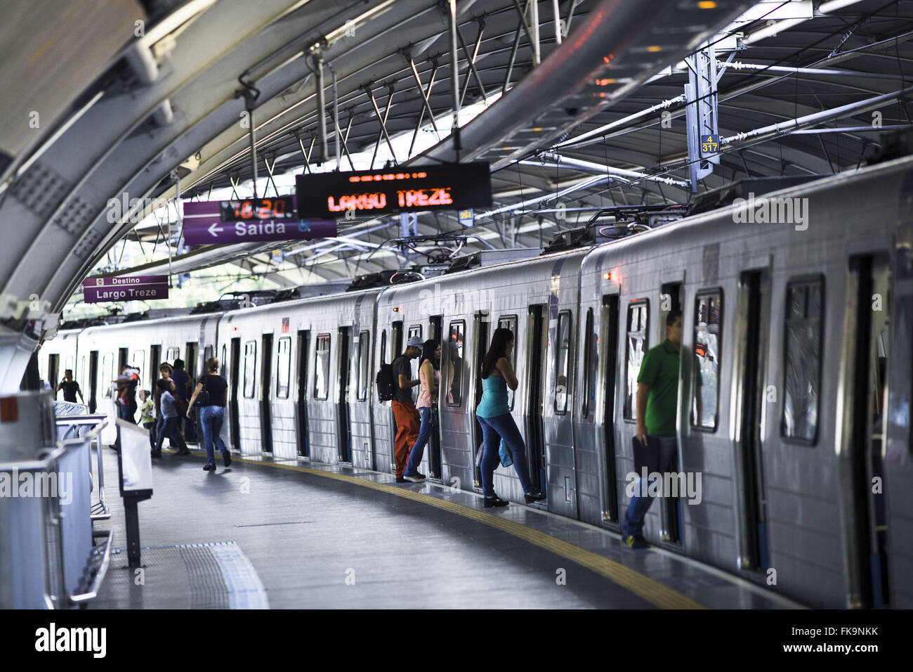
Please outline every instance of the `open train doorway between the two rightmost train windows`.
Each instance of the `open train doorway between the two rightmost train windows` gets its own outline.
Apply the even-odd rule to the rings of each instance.
[[[736,358],[733,385],[734,446],[739,569],[770,567],[767,544],[767,501],[761,453],[761,426],[766,408],[764,370],[768,347],[770,277],[766,271],[743,272],[736,303]]]

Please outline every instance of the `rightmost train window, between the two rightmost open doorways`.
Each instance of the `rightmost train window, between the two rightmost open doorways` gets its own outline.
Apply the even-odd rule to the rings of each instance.
[[[815,442],[818,430],[823,292],[821,279],[786,285],[781,434],[810,444]]]

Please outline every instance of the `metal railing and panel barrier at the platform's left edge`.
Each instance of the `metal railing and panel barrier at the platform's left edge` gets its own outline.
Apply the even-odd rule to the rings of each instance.
[[[42,394],[0,400],[0,608],[78,606],[96,596],[110,561],[112,533],[93,532],[91,516],[91,446],[107,418],[58,418],[58,432],[73,436],[54,441]]]

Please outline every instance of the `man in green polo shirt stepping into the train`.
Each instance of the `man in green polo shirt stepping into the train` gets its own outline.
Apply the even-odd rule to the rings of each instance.
[[[659,469],[669,471],[676,464],[676,410],[678,403],[678,369],[682,347],[682,314],[666,315],[666,340],[646,351],[637,376],[637,440],[646,445],[648,436],[659,440]],[[635,496],[624,514],[622,537],[632,549],[644,549],[644,516],[653,497]]]

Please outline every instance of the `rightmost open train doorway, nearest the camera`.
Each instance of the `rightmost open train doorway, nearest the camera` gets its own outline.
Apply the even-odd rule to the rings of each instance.
[[[863,608],[889,606],[887,517],[884,507],[882,448],[885,439],[888,364],[887,255],[850,259],[847,284],[849,315],[855,333],[847,338],[853,348],[852,389],[845,395],[843,413],[849,445],[844,485],[851,490],[846,541],[850,557],[850,603]],[[855,301],[851,293],[855,293]],[[850,426],[847,427],[846,425]],[[852,483],[847,481],[852,480]],[[846,505],[845,505],[846,506]]]

